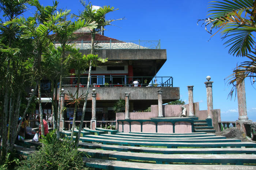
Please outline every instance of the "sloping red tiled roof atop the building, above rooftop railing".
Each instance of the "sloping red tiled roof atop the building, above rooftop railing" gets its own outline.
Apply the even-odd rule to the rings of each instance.
[[[74,33],[74,35],[78,36],[76,39],[74,39],[73,41],[91,41],[91,35],[90,33]],[[110,38],[104,35],[100,35],[100,34],[95,34],[95,41],[109,41],[109,40],[113,40],[113,41],[119,41],[117,39],[114,38]]]

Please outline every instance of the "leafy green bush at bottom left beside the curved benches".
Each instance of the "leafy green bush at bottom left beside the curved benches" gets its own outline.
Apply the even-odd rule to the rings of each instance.
[[[74,142],[68,139],[57,139],[55,131],[42,137],[44,144],[39,151],[31,154],[28,159],[21,162],[20,170],[78,170],[86,169],[82,154],[78,152]]]

